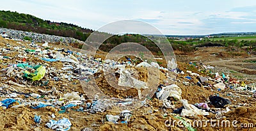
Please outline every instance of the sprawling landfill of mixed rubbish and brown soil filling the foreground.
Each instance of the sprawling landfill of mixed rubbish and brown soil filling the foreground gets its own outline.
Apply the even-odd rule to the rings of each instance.
[[[0,130],[256,130],[241,127],[256,124],[256,82],[214,66],[172,59],[168,69],[1,37],[0,45]],[[88,88],[93,82],[98,90]],[[150,96],[147,83],[156,85]],[[215,126],[204,122],[211,119]]]

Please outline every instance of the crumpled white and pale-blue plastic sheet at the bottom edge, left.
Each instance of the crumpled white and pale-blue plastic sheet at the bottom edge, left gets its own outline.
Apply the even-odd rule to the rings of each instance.
[[[53,130],[65,131],[65,130],[69,130],[72,124],[69,121],[69,119],[63,118],[63,119],[59,119],[58,121],[51,119],[49,123],[46,123],[45,125],[48,128],[51,128]]]

